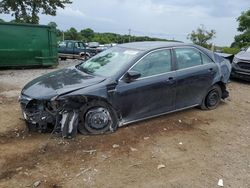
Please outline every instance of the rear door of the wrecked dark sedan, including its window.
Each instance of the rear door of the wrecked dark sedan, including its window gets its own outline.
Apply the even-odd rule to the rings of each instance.
[[[174,49],[177,63],[176,109],[201,104],[218,73],[218,66],[194,47]]]

